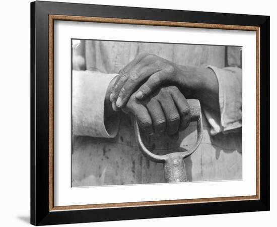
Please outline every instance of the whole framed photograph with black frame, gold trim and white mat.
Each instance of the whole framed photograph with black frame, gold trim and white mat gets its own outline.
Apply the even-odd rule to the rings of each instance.
[[[269,210],[269,17],[31,3],[31,223]]]

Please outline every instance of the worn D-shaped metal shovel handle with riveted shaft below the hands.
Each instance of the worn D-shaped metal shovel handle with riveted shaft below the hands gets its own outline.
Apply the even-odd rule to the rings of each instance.
[[[202,115],[201,115],[201,106],[200,102],[197,99],[187,99],[190,106],[189,115],[191,117],[191,122],[197,122],[197,141],[194,146],[184,152],[174,152],[165,155],[153,154],[149,151],[144,145],[138,128],[137,121],[134,118],[134,131],[138,146],[141,148],[143,154],[151,159],[154,162],[164,163],[165,169],[165,178],[167,182],[185,182],[187,181],[184,158],[191,155],[197,147],[200,145],[200,142],[203,137],[203,126],[202,126]]]

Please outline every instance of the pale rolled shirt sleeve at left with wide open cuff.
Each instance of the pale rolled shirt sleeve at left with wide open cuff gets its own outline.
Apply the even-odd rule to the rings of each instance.
[[[72,73],[72,131],[74,135],[113,138],[119,128],[119,118],[113,124],[104,122],[104,101],[107,88],[117,74],[93,71]]]

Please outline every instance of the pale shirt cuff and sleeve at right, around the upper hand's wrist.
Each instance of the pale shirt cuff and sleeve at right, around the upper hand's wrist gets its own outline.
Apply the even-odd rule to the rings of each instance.
[[[207,68],[214,71],[219,83],[220,118],[209,109],[203,109],[211,125],[211,135],[240,131],[242,126],[241,69],[236,67],[219,69],[214,66],[207,66]]]

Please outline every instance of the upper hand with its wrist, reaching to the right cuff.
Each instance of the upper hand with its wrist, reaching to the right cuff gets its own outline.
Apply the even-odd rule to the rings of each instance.
[[[164,85],[175,85],[185,97],[199,99],[220,115],[218,81],[211,69],[176,65],[149,53],[137,55],[119,72],[111,89],[112,107],[124,108],[133,93],[143,100]]]

